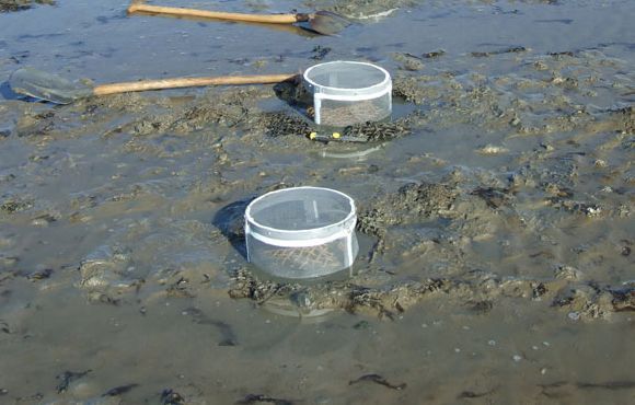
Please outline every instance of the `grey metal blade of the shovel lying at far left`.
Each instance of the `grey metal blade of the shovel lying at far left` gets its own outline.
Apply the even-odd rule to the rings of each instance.
[[[92,94],[92,89],[34,68],[21,68],[9,78],[11,90],[56,104],[70,104]]]

